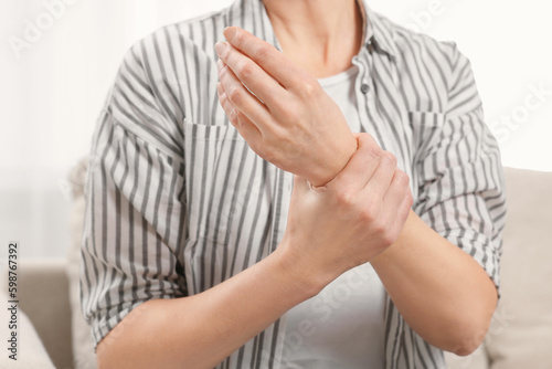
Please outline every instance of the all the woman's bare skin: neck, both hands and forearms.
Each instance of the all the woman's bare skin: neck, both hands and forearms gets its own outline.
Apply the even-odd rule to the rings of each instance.
[[[212,368],[365,262],[418,335],[442,349],[471,352],[496,307],[493,284],[473,257],[411,211],[408,178],[394,156],[369,134],[351,134],[316,81],[349,67],[358,52],[360,42],[333,52],[341,24],[354,24],[349,29],[361,38],[354,1],[265,4],[286,55],[244,30],[226,29],[227,43],[216,45],[217,89],[252,149],[296,175],[282,243],[201,294],[140,305],[98,345],[99,367]],[[336,11],[341,7],[357,10]],[[299,45],[302,36],[316,42]]]

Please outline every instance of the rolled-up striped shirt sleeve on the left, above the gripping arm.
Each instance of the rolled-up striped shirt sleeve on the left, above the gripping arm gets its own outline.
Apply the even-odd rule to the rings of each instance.
[[[89,158],[81,297],[95,345],[141,303],[187,294],[183,139],[147,73],[147,42],[124,60]]]

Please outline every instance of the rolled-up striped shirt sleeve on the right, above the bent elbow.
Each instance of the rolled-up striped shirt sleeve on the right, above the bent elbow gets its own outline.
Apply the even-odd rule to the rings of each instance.
[[[498,144],[485,125],[469,61],[452,59],[447,109],[420,145],[414,211],[436,232],[470,254],[499,288],[506,218]]]

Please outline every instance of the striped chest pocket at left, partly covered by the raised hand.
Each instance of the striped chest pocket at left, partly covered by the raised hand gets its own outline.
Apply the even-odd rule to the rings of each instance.
[[[184,122],[183,127],[188,239],[199,249],[231,250],[253,226],[246,208],[264,199],[263,160],[230,124]]]

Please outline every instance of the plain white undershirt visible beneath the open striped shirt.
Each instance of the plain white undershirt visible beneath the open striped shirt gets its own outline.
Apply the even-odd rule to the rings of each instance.
[[[352,131],[360,131],[358,67],[319,80]],[[342,274],[287,315],[283,368],[383,369],[385,291],[367,263]]]

